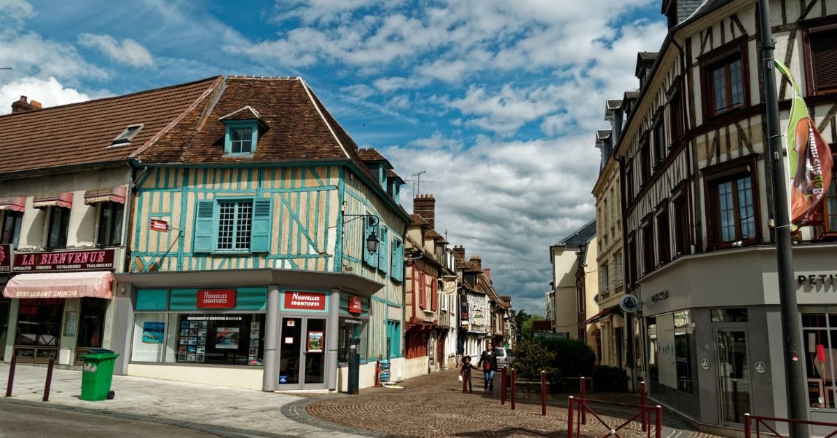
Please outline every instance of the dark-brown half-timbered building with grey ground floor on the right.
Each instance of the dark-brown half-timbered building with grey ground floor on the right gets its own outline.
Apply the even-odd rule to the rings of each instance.
[[[639,54],[639,94],[614,157],[624,209],[625,284],[642,302],[632,342],[650,396],[692,419],[740,427],[744,413],[787,417],[773,199],[757,4],[665,0],[670,31]],[[837,141],[837,3],[773,0],[776,57]],[[768,60],[769,62],[769,60]],[[791,90],[778,79],[783,124]],[[794,234],[813,420],[834,420],[831,276],[837,193],[824,223]],[[641,343],[640,343],[641,341]],[[823,351],[824,353],[817,353]]]

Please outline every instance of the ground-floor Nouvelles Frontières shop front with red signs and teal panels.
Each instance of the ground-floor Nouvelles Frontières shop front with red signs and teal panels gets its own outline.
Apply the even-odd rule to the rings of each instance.
[[[350,274],[235,270],[121,274],[131,321],[117,374],[249,389],[336,389],[349,339],[368,343],[369,296]],[[124,306],[122,304],[124,303]]]

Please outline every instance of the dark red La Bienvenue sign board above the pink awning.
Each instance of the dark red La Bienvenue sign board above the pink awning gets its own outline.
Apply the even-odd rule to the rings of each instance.
[[[13,272],[116,271],[116,248],[15,253]]]

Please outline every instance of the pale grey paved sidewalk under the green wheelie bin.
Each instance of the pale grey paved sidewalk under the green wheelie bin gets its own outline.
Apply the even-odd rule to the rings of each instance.
[[[56,368],[49,402],[43,402],[47,369],[18,364],[13,394],[7,398],[3,395],[6,394],[8,369],[7,363],[0,364],[0,389],[3,390],[0,416],[4,403],[21,403],[179,425],[229,437],[357,436],[334,427],[323,429],[303,424],[281,414],[283,406],[306,398],[141,377],[114,376],[111,389],[116,391],[115,399],[85,401],[79,399],[80,371]]]

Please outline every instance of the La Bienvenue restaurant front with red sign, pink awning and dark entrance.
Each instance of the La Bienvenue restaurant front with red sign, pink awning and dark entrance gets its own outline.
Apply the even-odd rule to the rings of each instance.
[[[17,253],[0,300],[0,356],[80,365],[109,347],[116,249]]]

